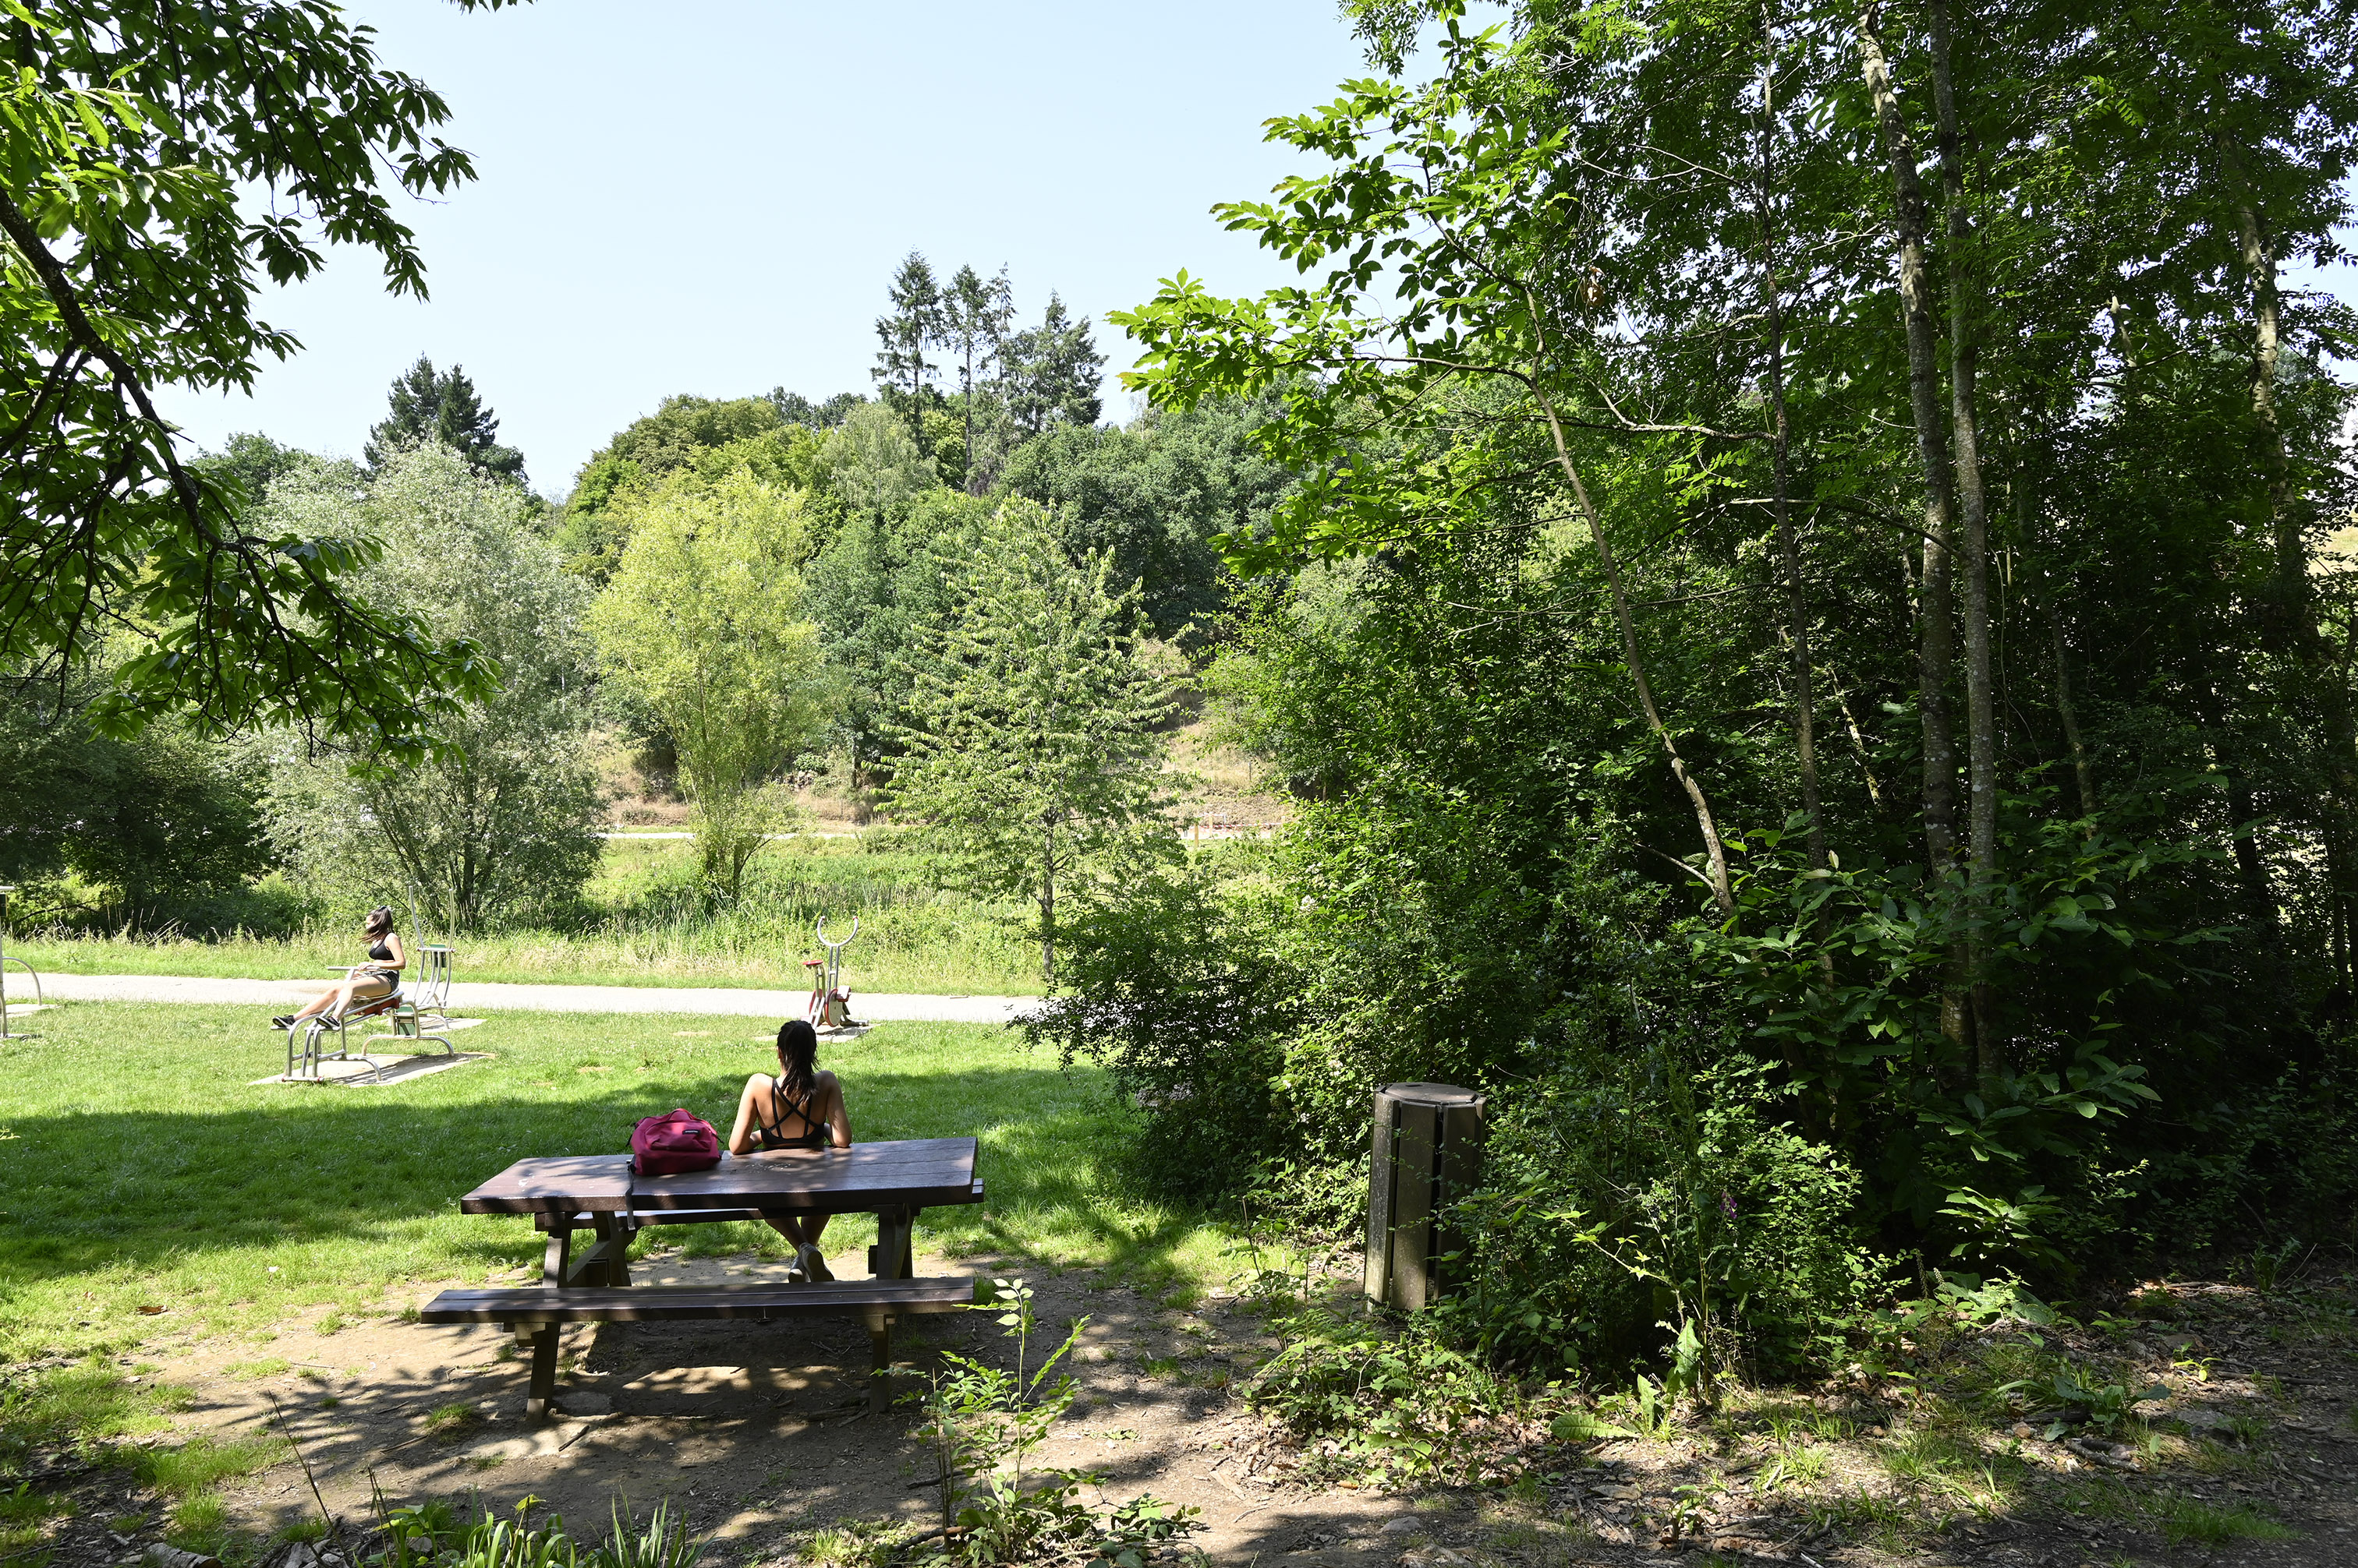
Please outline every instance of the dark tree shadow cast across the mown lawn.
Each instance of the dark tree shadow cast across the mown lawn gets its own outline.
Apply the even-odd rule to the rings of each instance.
[[[474,1068],[460,1068],[469,1073]],[[446,1075],[446,1078],[457,1078]],[[276,1089],[264,1103],[210,1111],[66,1111],[14,1115],[0,1170],[0,1302],[94,1271],[186,1266],[210,1252],[325,1245],[399,1247],[415,1221],[455,1217],[457,1200],[526,1155],[620,1153],[641,1115],[703,1106],[724,1134],[743,1078],[707,1073],[566,1101],[479,1096],[465,1103],[373,1099],[368,1089]],[[1026,1120],[988,1120],[1028,1106]],[[962,1250],[1030,1250],[1045,1233],[1096,1238],[1104,1261],[1167,1271],[1196,1217],[1108,1195],[1104,1101],[1054,1068],[896,1073],[870,1063],[851,1099],[861,1141],[981,1139],[988,1200],[931,1210],[922,1236]],[[677,1226],[658,1240],[752,1226]],[[719,1240],[719,1238],[714,1238]],[[538,1247],[531,1219],[467,1217],[415,1257],[460,1269],[516,1261]],[[403,1247],[406,1250],[406,1247]],[[710,1250],[700,1245],[696,1250]]]

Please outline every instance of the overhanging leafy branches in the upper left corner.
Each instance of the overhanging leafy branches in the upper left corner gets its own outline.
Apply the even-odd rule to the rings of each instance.
[[[422,295],[394,193],[474,177],[434,134],[448,106],[387,71],[365,28],[309,5],[66,0],[9,17],[0,672],[61,689],[106,663],[106,733],[165,714],[208,738],[292,722],[417,759],[443,700],[481,696],[493,672],[361,599],[365,540],[245,526],[250,495],[182,460],[156,391],[250,389],[292,354],[255,295],[316,274],[328,241],[373,250],[387,288]],[[262,191],[295,200],[264,207]]]

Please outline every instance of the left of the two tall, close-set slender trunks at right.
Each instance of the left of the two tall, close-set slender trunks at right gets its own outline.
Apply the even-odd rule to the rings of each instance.
[[[1917,712],[1924,722],[1924,861],[1931,877],[1952,870],[1957,851],[1957,738],[1948,714],[1948,677],[1957,663],[1950,618],[1950,519],[1955,493],[1948,469],[1948,431],[1941,424],[1941,368],[1931,321],[1931,283],[1924,271],[1924,186],[1917,182],[1915,144],[1891,90],[1884,57],[1882,7],[1870,0],[1858,17],[1858,61],[1891,163],[1893,231],[1901,262],[1901,323],[1908,330],[1908,406],[1915,413],[1917,460],[1924,467],[1924,580],[1917,592]],[[1964,983],[1959,962],[1941,983],[1941,1035],[1964,1052]]]

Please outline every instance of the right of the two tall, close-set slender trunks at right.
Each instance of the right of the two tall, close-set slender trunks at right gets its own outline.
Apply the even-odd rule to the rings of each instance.
[[[1964,512],[1964,736],[1967,865],[1974,927],[1967,967],[1974,995],[1974,1052],[1983,1082],[2004,1066],[1990,1004],[1981,924],[1997,877],[1997,703],[1990,691],[1990,493],[1981,479],[1976,406],[1978,323],[1974,302],[1974,219],[1964,200],[1964,146],[1957,130],[1948,0],[1931,0],[1931,90],[1941,125],[1941,189],[1948,203],[1948,391]]]

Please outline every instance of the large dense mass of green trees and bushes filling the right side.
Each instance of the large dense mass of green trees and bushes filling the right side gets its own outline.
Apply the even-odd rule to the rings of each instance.
[[[2228,1203],[2316,1233],[2358,1188],[2318,1113],[2351,318],[2280,274],[2351,210],[2346,17],[1990,12],[1950,59],[1915,17],[1351,9],[1391,80],[1271,120],[1302,170],[1219,210],[1302,278],[1115,316],[1129,387],[1262,398],[1302,476],[1217,540],[1210,686],[1309,802],[1250,943],[1299,976],[1304,1207],[1370,1087],[1486,1089],[1464,1344],[1665,1398],[1832,1358],[1882,1247],[2044,1283]],[[1882,170],[1943,144],[1926,215]]]

